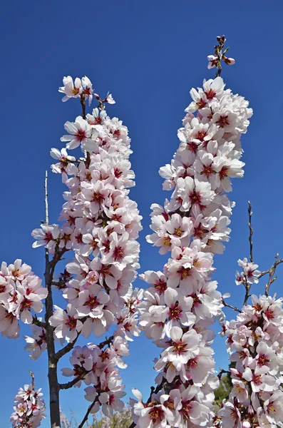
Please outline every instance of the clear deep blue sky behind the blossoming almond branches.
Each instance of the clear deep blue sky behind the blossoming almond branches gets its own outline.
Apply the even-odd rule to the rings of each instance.
[[[224,255],[215,258],[215,279],[231,302],[241,305],[243,292],[234,282],[237,259],[248,255],[247,200],[254,210],[254,260],[267,269],[283,256],[282,147],[282,12],[279,1],[227,1],[215,4],[188,0],[143,1],[5,1],[1,8],[1,260],[22,258],[37,275],[43,273],[43,250],[33,250],[31,230],[43,219],[43,176],[51,147],[61,147],[63,123],[73,120],[76,101],[61,103],[61,78],[88,76],[98,93],[113,93],[118,116],[130,130],[136,174],[131,198],[143,215],[140,272],[158,270],[166,261],[145,242],[150,204],[163,203],[158,168],[169,163],[177,148],[177,128],[190,102],[192,86],[214,76],[206,56],[215,37],[225,34],[236,64],[225,67],[227,87],[250,101],[254,116],[242,138],[245,178],[234,181],[237,205],[232,234]],[[64,190],[50,174],[51,221],[56,222]],[[279,280],[273,290],[282,295]],[[136,282],[143,287],[143,283]],[[256,287],[255,287],[256,288]],[[257,287],[255,292],[261,292]],[[230,312],[227,312],[232,316]],[[27,330],[23,328],[22,332]],[[24,339],[0,337],[0,422],[8,428],[12,400],[29,370],[48,398],[46,355],[32,362]],[[215,340],[217,367],[227,365],[225,343]],[[155,373],[155,348],[144,337],[130,346],[128,369],[122,372],[127,392],[138,387],[148,397]],[[67,362],[66,362],[67,363]],[[66,367],[63,363],[61,367]],[[61,405],[81,419],[87,408],[83,389],[63,392]],[[48,427],[43,422],[42,427]]]

